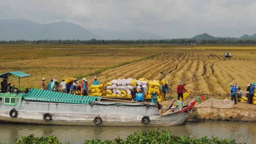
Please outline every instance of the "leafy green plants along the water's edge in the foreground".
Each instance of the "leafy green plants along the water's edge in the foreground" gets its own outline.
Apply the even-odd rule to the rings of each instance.
[[[20,136],[20,140],[15,140],[15,144],[61,144],[56,136],[47,137],[34,137],[33,134],[28,136]],[[101,141],[97,138],[92,140],[86,140],[84,144],[236,144],[235,140],[219,139],[218,137],[209,139],[207,136],[201,138],[189,138],[185,136],[174,136],[170,131],[159,132],[158,129],[152,129],[149,131],[137,131],[131,134],[123,140],[118,136],[113,141],[104,140]],[[63,143],[67,144],[67,143]],[[69,143],[68,143],[69,144]],[[241,143],[246,144],[246,143]]]

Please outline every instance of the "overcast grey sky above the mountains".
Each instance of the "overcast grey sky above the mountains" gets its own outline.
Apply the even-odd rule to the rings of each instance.
[[[256,33],[255,0],[0,0],[0,19],[68,21],[85,29],[139,29],[168,38]]]

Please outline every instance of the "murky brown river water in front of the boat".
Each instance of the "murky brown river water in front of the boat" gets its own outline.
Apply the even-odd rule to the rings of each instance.
[[[113,140],[120,136],[125,139],[135,131],[148,131],[159,128],[159,131],[170,130],[174,135],[188,135],[201,138],[212,136],[218,138],[230,137],[236,143],[256,143],[256,124],[247,122],[184,122],[183,125],[170,127],[102,127],[102,126],[49,126],[49,125],[21,125],[0,123],[0,143],[15,143],[19,135],[34,134],[37,137],[56,135],[60,142],[81,144],[86,139],[98,138],[100,140]]]

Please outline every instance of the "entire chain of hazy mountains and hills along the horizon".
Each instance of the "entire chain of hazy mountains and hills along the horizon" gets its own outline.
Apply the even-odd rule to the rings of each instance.
[[[54,22],[39,24],[28,19],[0,19],[0,40],[149,40],[170,39],[141,30],[112,31],[107,29],[85,29],[71,22]],[[219,39],[207,33],[196,35],[191,39]],[[256,38],[254,35],[243,35],[240,38]]]

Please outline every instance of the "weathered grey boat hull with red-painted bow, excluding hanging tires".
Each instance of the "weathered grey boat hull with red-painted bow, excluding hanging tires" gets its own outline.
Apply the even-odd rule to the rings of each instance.
[[[0,121],[22,124],[41,125],[81,125],[81,126],[170,126],[184,123],[193,106],[174,113],[161,114],[155,107],[149,106],[106,106],[87,104],[67,104],[53,102],[22,102],[15,106],[17,117],[11,118],[9,112],[13,106],[6,106],[0,102]],[[170,111],[170,110],[169,110]],[[43,115],[50,113],[52,119],[45,121]],[[102,123],[96,125],[95,117],[102,118]],[[148,116],[150,122],[142,123],[142,118]]]

